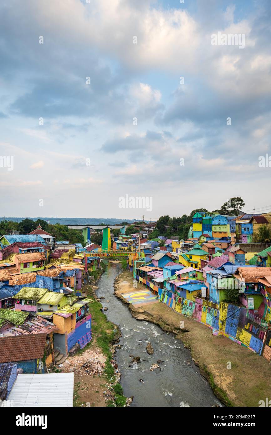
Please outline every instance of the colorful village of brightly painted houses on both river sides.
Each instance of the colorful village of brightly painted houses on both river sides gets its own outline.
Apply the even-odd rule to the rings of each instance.
[[[151,309],[174,312],[180,322],[176,334],[185,335],[189,319],[189,328],[200,324],[210,337],[223,340],[222,353],[231,341],[234,351],[246,348],[271,370],[271,241],[255,241],[259,234],[271,234],[271,213],[233,216],[199,210],[185,240],[152,237],[159,231],[156,222],[70,228],[82,231],[84,244],[57,241],[40,224],[29,234],[10,230],[0,237],[1,406],[77,406],[74,372],[63,368],[71,356],[87,352],[93,344],[97,319],[91,311],[95,299],[100,299],[90,296],[88,288],[108,259],[123,265],[115,295],[131,311],[139,310],[137,315],[143,317],[137,318],[146,320],[144,311]],[[100,244],[91,241],[96,240],[94,234],[100,235]],[[122,291],[124,275],[130,285]],[[101,306],[100,311],[105,317],[107,308]],[[118,340],[114,343],[115,352]],[[146,349],[154,353],[151,343]],[[260,369],[262,363],[257,361]],[[109,364],[110,379],[117,375],[119,385],[121,370],[114,357]],[[48,385],[57,388],[58,398]],[[111,382],[113,399],[119,388],[115,385]],[[230,399],[223,400],[218,389],[213,388],[217,397],[229,405]],[[260,390],[257,394],[261,397]],[[110,400],[111,406],[131,402],[125,398],[117,405]],[[250,406],[258,406],[253,403]]]

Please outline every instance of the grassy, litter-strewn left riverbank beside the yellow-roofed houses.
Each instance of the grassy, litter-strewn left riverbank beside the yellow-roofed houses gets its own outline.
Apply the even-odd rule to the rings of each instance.
[[[102,270],[96,271],[95,283],[105,270],[106,265],[103,265]],[[117,325],[107,320],[96,289],[93,284],[84,286],[87,297],[92,300],[89,303],[92,340],[75,355],[68,356],[63,366],[56,366],[54,371],[74,372],[75,407],[129,406],[131,401],[123,395],[114,356],[115,343],[121,333]]]

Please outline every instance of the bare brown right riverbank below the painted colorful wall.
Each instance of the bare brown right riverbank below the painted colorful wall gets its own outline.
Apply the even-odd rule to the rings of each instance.
[[[258,407],[260,400],[271,397],[271,367],[265,358],[228,338],[212,335],[210,328],[171,310],[162,302],[135,308],[125,299],[125,293],[136,290],[130,271],[119,274],[114,289],[116,296],[129,305],[134,318],[154,323],[183,341],[201,374],[224,405]],[[144,289],[144,285],[137,283],[138,291]],[[180,329],[181,321],[184,322],[183,331]],[[231,368],[228,368],[229,363]]]

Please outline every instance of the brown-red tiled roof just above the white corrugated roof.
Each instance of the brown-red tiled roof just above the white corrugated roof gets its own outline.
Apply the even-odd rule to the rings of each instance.
[[[0,338],[0,363],[43,358],[47,334]]]

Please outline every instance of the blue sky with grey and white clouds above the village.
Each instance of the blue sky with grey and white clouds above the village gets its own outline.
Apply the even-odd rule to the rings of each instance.
[[[269,0],[2,0],[0,17],[1,216],[271,211]]]

